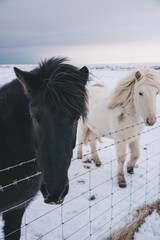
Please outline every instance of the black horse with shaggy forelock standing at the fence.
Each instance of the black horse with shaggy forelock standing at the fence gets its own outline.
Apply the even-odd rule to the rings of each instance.
[[[31,72],[14,68],[17,79],[0,88],[0,212],[6,240],[20,238],[25,207],[39,189],[51,204],[62,203],[68,193],[89,73],[65,61],[52,58]]]

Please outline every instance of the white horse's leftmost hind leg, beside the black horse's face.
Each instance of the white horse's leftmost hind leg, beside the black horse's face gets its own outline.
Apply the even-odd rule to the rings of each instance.
[[[86,124],[83,123],[82,119],[79,120],[78,123],[78,150],[77,150],[77,158],[82,159],[82,145],[83,142],[86,141],[87,138],[87,133],[88,133],[89,128],[87,127]]]

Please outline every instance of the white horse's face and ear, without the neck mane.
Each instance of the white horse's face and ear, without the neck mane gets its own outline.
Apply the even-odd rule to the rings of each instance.
[[[156,95],[160,91],[160,83],[153,76],[150,73],[143,74],[140,71],[135,73],[135,110],[147,126],[152,126],[156,122]]]

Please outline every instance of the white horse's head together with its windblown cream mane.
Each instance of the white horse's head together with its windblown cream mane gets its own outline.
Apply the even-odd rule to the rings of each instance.
[[[107,108],[120,107],[131,115],[135,112],[147,126],[152,126],[156,122],[157,93],[160,93],[159,72],[151,68],[133,70],[119,81]]]

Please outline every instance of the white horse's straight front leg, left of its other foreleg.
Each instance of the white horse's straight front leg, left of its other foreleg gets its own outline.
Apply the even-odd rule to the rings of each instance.
[[[118,157],[118,171],[117,171],[117,181],[119,187],[125,188],[127,186],[125,176],[124,176],[124,162],[126,160],[126,144],[117,144],[117,157]]]

